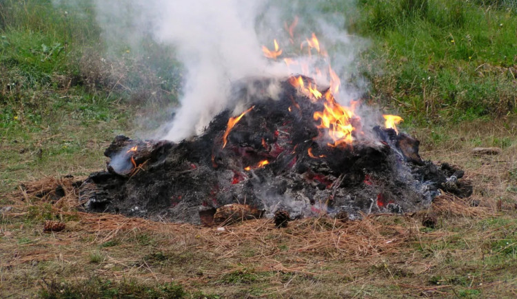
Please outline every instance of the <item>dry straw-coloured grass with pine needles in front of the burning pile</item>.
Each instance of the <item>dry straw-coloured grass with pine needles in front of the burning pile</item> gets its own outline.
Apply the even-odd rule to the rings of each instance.
[[[42,279],[81,284],[94,276],[174,281],[192,298],[515,296],[517,198],[508,186],[517,185],[516,145],[482,157],[465,154],[469,141],[443,146],[423,156],[463,165],[471,198],[443,195],[405,216],[310,218],[286,229],[267,219],[221,230],[88,214],[78,210],[74,182],[82,178],[26,183],[1,216],[0,293],[29,296],[48,288]],[[55,189],[65,196],[56,199]],[[435,229],[421,224],[428,214],[438,218]],[[66,229],[43,233],[44,220]]]

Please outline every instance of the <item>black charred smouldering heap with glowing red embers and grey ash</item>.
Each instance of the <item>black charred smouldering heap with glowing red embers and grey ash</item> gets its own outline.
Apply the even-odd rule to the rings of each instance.
[[[283,226],[322,214],[414,212],[440,190],[472,194],[461,169],[422,161],[419,142],[393,128],[365,132],[350,118],[353,142],[323,142],[315,119],[328,102],[300,92],[292,78],[240,85],[234,96],[247,99],[248,110],[225,110],[180,143],[117,136],[105,151],[108,169],[83,182],[79,199],[91,212],[203,225],[276,213]]]

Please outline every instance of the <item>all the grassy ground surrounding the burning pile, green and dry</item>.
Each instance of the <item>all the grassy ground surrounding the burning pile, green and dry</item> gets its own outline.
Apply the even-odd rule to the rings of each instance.
[[[181,93],[174,49],[145,38],[138,48],[107,45],[94,22],[92,2],[79,2],[54,7],[50,0],[0,1],[0,206],[13,205],[10,195],[24,181],[102,169],[103,149],[114,135],[131,135],[135,119],[143,115],[155,117],[140,122],[140,130],[156,127],[168,118],[164,107]],[[374,227],[387,225],[386,240],[402,236],[403,241],[397,243],[398,254],[365,249],[357,258],[355,249],[308,250],[316,237],[296,243],[301,240],[296,229],[264,228],[267,222],[250,225],[259,229],[245,243],[239,238],[250,227],[237,226],[232,244],[238,246],[218,243],[230,236],[216,231],[158,224],[160,231],[135,225],[41,234],[49,218],[64,217],[68,226],[81,227],[101,218],[25,202],[14,205],[11,216],[1,216],[0,291],[10,294],[23,282],[25,295],[49,298],[281,297],[293,292],[514,296],[516,2],[358,0],[350,6],[336,0],[317,5],[343,14],[349,32],[372,41],[358,61],[371,83],[365,101],[401,114],[404,129],[422,142],[424,158],[463,165],[476,186],[471,200],[483,203],[482,214],[443,212],[432,230],[412,218],[370,219]],[[502,147],[503,154],[474,158],[468,152],[475,146]],[[308,225],[314,236],[317,231],[354,234],[315,221]],[[270,257],[268,269],[256,265],[264,255]],[[176,278],[181,283],[171,282]]]

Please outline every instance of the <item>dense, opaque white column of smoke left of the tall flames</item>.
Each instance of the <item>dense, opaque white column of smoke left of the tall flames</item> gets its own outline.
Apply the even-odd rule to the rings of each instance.
[[[181,109],[165,139],[179,141],[201,132],[225,108],[233,81],[272,70],[254,34],[261,3],[165,1],[165,15],[158,18],[154,34],[160,42],[176,45],[187,69]]]

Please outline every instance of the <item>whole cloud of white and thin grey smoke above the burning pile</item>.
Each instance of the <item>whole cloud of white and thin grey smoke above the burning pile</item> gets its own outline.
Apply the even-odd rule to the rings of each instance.
[[[273,39],[278,40],[284,54],[296,56],[308,65],[318,83],[328,83],[328,78],[315,70],[327,70],[327,65],[332,64],[345,83],[336,95],[340,103],[348,103],[364,90],[363,81],[352,78],[352,74],[356,72],[356,55],[365,41],[347,34],[343,12],[329,9],[329,1],[93,1],[108,45],[125,43],[138,47],[144,38],[151,37],[156,43],[172,46],[171,55],[183,64],[180,107],[170,123],[163,125],[159,138],[181,141],[199,134],[228,105],[236,107],[235,114],[247,109],[230,101],[232,83],[236,81],[253,76],[280,78],[307,73],[300,65],[287,67],[282,59],[266,59],[261,47],[272,49]],[[344,2],[347,6],[352,3]],[[343,1],[340,5],[343,8]],[[296,18],[291,36],[288,29]],[[301,48],[313,32],[328,52],[325,59]],[[354,86],[347,86],[352,79]]]

